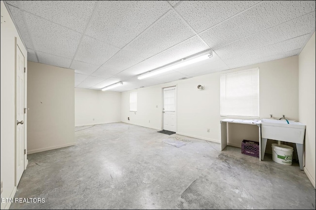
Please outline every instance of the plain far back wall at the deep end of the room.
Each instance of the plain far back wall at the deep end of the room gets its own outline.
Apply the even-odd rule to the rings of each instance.
[[[120,95],[75,88],[75,126],[120,122]]]

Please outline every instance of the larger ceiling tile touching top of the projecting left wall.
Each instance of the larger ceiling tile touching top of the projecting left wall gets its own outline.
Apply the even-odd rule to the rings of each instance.
[[[69,68],[71,60],[68,58],[59,57],[37,51],[39,62],[42,64],[52,65],[56,67]]]

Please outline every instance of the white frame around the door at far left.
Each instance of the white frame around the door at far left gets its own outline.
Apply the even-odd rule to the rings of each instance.
[[[20,50],[21,53],[24,56],[24,68],[25,68],[25,73],[24,73],[24,107],[26,108],[27,105],[27,50],[24,47],[24,44],[20,41],[19,38],[14,37],[15,39],[15,51],[14,51],[14,185],[17,187],[18,183],[16,181],[17,177],[17,151],[16,151],[16,144],[17,144],[17,137],[16,137],[16,120],[17,120],[17,114],[16,114],[16,108],[17,108],[17,89],[16,89],[16,77],[17,77],[17,50]],[[27,159],[27,111],[25,111],[24,114],[24,149],[25,149],[25,154],[24,154],[24,170],[26,169],[28,165],[28,159]]]

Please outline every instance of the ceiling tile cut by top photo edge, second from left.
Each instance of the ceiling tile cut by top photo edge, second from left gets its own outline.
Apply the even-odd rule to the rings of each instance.
[[[168,10],[163,1],[101,1],[86,34],[122,48]]]

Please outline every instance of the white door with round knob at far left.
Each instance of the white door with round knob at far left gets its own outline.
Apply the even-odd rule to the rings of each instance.
[[[16,45],[16,186],[24,171],[24,55]]]

